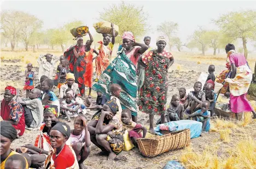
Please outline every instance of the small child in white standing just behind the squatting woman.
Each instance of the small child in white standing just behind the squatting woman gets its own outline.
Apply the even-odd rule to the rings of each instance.
[[[117,117],[121,120],[121,113],[122,113],[122,106],[120,104],[120,100],[119,95],[121,92],[121,86],[119,86],[118,84],[112,84],[110,86],[110,92],[111,92],[111,96],[110,96],[110,100],[115,100],[115,103],[118,105],[118,111],[117,111]]]

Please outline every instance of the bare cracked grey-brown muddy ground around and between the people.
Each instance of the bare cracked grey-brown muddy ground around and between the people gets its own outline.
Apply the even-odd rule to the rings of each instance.
[[[19,84],[19,89],[21,89],[21,96],[25,96],[25,91],[22,91],[22,87],[24,86],[25,81],[25,73],[20,71],[21,66],[17,65],[4,65],[5,62],[9,61],[2,61],[1,66],[1,81],[16,81],[16,84]],[[197,78],[200,75],[200,71],[207,72],[208,65],[206,64],[197,64],[195,62],[184,62],[184,61],[177,61],[176,64],[181,64],[186,70],[188,71],[178,71],[174,70],[175,65],[173,68],[171,68],[170,73],[168,75],[169,77],[169,87],[168,87],[168,99],[167,104],[169,104],[171,100],[171,96],[174,93],[178,92],[179,87],[185,87],[185,88],[191,88],[194,85],[194,82],[197,80]],[[216,72],[220,72],[224,67],[217,67]],[[34,67],[33,71],[36,73],[35,83],[38,85],[37,80],[37,70],[38,68]],[[2,83],[3,84],[3,83]],[[8,84],[6,84],[8,85]],[[5,86],[6,86],[5,85]],[[3,88],[2,85],[2,91],[1,96],[3,94]],[[55,88],[56,94],[58,93],[58,90]],[[95,95],[96,96],[96,95]],[[88,112],[86,114],[86,118],[91,119],[92,114],[94,114],[95,111]],[[158,116],[155,116],[155,122],[158,120]],[[65,122],[65,120],[62,120],[62,122]],[[147,114],[138,112],[138,122],[149,126],[149,119]],[[73,128],[73,122],[68,123],[71,128]],[[252,128],[255,128],[252,126]],[[252,130],[252,128],[247,128],[245,130]],[[29,131],[26,130],[25,134],[20,137],[19,139],[16,139],[12,144],[11,147],[15,149],[16,147],[22,146],[24,144],[28,143],[34,143],[35,138],[38,134],[38,131]],[[255,132],[253,132],[253,136],[256,137]],[[236,135],[234,135],[234,138]],[[209,134],[203,135],[202,137],[195,138],[191,140],[191,145],[193,149],[202,152],[202,150],[207,145],[211,145],[212,141],[216,138],[219,138],[218,132],[210,132]],[[220,145],[227,146],[225,144]],[[228,145],[228,147],[232,146],[232,143]],[[220,151],[218,152],[219,156],[225,156],[225,153],[222,152],[220,148]],[[179,160],[179,156],[183,152],[182,150],[174,150],[171,152],[167,152],[164,154],[161,154],[159,156],[156,156],[155,158],[144,158],[138,151],[138,149],[132,149],[130,152],[121,152],[118,155],[118,158],[114,161],[107,161],[107,156],[98,156],[96,155],[98,152],[100,152],[100,149],[98,149],[94,144],[91,144],[91,154],[88,159],[85,160],[85,165],[88,166],[88,168],[127,168],[127,169],[139,169],[139,168],[162,168],[165,166],[167,161],[170,160]]]

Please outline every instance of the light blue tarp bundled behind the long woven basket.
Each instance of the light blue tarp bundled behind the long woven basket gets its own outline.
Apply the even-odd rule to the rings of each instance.
[[[156,134],[161,136],[162,134],[160,132],[159,125],[156,126],[155,132]],[[178,120],[174,122],[164,123],[164,125],[167,125],[170,129],[177,128],[176,131],[190,129],[190,138],[199,137],[202,131],[202,123],[196,122],[194,120]]]

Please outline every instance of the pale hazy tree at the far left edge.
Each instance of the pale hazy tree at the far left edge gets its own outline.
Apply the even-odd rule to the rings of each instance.
[[[1,13],[1,29],[5,38],[10,40],[11,51],[14,51],[15,43],[21,35],[24,25],[22,11],[3,11]]]

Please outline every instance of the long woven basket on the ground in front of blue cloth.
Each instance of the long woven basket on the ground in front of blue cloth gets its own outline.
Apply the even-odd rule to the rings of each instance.
[[[138,148],[143,156],[154,157],[174,149],[189,146],[190,130],[174,131],[153,138],[137,138]]]

